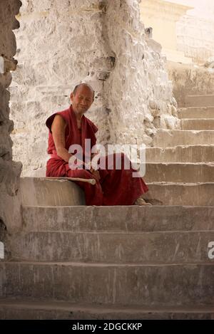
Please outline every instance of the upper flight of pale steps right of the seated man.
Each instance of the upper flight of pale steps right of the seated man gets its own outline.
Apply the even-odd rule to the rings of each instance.
[[[147,150],[145,179],[163,204],[213,206],[213,105],[214,95],[188,96],[178,113],[181,129],[159,130]]]

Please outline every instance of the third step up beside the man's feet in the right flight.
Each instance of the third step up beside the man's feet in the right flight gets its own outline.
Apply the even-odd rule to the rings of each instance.
[[[213,162],[214,145],[146,148],[146,162]]]

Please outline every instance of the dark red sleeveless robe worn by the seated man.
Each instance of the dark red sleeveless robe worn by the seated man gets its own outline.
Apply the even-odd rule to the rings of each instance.
[[[70,108],[58,113],[54,113],[46,120],[46,126],[49,127],[49,147],[48,153],[51,159],[46,165],[46,177],[81,177],[85,179],[93,178],[91,172],[86,169],[72,170],[61,157],[56,155],[56,147],[51,133],[51,125],[55,115],[61,115],[66,121],[66,149],[73,144],[83,147],[85,139],[91,139],[91,147],[96,144],[96,136],[98,128],[88,120],[84,115],[81,119],[81,131],[78,130],[76,116],[73,113],[72,105]],[[108,156],[109,157],[109,156]],[[108,159],[106,157],[106,159]],[[116,155],[114,155],[116,157]],[[123,160],[127,159],[122,155],[122,168],[99,169],[101,179],[95,185],[86,182],[76,182],[85,192],[86,205],[133,205],[136,199],[148,191],[148,187],[141,177],[132,177],[134,169],[124,169]],[[106,166],[108,166],[106,164]]]

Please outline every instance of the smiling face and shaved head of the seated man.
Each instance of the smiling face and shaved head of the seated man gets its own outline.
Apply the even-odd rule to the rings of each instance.
[[[75,94],[71,93],[71,102],[76,113],[86,113],[93,103],[93,91],[89,87],[81,85]]]

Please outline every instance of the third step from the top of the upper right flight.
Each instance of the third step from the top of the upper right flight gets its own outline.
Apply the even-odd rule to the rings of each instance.
[[[181,130],[214,130],[214,118],[183,118],[180,127]]]

